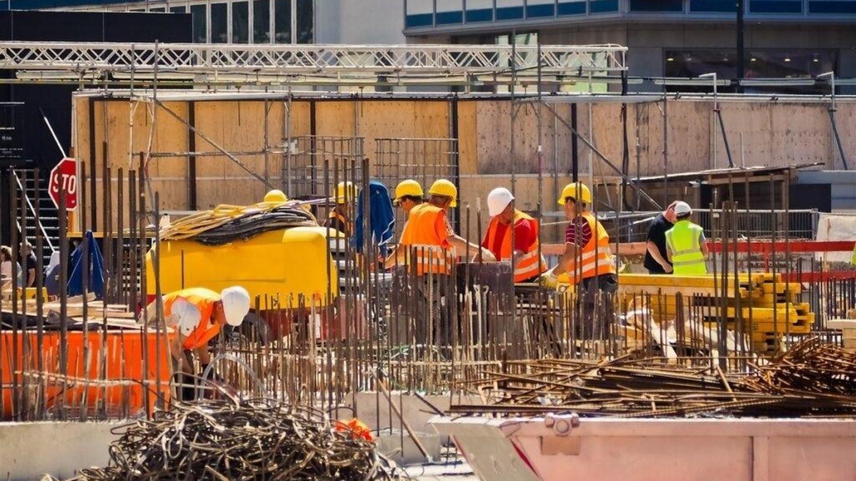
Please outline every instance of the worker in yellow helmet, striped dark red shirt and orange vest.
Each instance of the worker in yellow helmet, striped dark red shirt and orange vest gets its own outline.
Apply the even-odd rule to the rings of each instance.
[[[602,292],[604,312],[608,320],[612,319],[611,294],[618,290],[618,279],[615,275],[615,259],[609,249],[609,234],[606,228],[589,212],[591,206],[591,191],[587,185],[574,182],[565,185],[559,205],[565,209],[565,217],[570,221],[565,231],[565,251],[556,267],[544,275],[544,284],[555,286],[557,277],[568,273],[572,282],[578,284],[585,296],[585,312],[577,329],[586,331],[587,336],[597,337],[603,333],[606,326],[595,321],[596,293]],[[586,327],[588,326],[588,327]],[[591,327],[591,328],[589,328]]]

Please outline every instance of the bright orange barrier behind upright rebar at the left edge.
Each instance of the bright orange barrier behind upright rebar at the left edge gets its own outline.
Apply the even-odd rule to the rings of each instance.
[[[29,355],[24,363],[24,339],[29,343]],[[42,347],[42,374],[39,375],[39,355],[36,333],[27,331],[13,333],[0,331],[0,367],[2,367],[2,396],[3,419],[10,419],[13,407],[20,412],[23,396],[28,396],[29,409],[32,410],[36,399],[36,386],[44,385],[45,407],[52,408],[58,402],[64,402],[69,408],[80,406],[83,397],[89,408],[90,415],[95,414],[101,402],[110,415],[122,414],[122,406],[128,402],[128,414],[138,414],[146,409],[144,393],[148,392],[148,408],[151,413],[154,408],[158,390],[157,380],[161,382],[161,392],[164,400],[169,402],[169,349],[167,339],[161,336],[157,342],[154,332],[144,335],[139,331],[107,331],[105,343],[106,356],[104,364],[106,372],[101,367],[101,337],[100,331],[89,331],[86,344],[89,346],[85,361],[83,352],[83,332],[68,332],[68,383],[59,378],[60,374],[60,333],[45,332]],[[17,346],[15,346],[15,343]],[[159,349],[158,349],[159,348]],[[15,350],[16,349],[16,350]],[[147,354],[146,372],[143,372],[143,352]],[[16,355],[15,355],[16,354]],[[12,359],[15,355],[16,372],[12,372]],[[160,358],[160,371],[158,361]],[[86,371],[88,364],[88,372]],[[22,389],[24,374],[27,374],[27,392]],[[13,399],[13,375],[19,395]],[[92,382],[87,382],[87,379]],[[148,388],[142,384],[148,381]]]

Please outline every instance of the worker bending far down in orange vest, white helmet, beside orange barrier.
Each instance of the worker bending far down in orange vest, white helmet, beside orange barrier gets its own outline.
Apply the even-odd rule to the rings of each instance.
[[[153,324],[157,316],[156,301],[149,304],[147,316]],[[175,290],[163,296],[163,318],[166,326],[176,329],[177,334],[169,343],[169,351],[175,361],[175,371],[192,373],[193,365],[186,355],[195,353],[199,364],[205,368],[211,363],[208,341],[216,337],[225,325],[241,326],[244,316],[250,311],[250,295],[241,286],[227,287],[219,293],[193,287]],[[182,393],[185,399],[193,391],[191,387]]]

